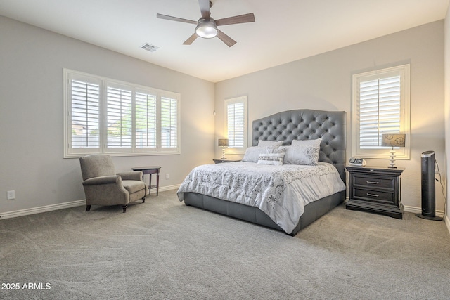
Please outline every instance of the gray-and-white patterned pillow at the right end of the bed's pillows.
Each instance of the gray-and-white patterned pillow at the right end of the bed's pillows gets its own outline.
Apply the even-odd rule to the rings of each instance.
[[[285,164],[315,165],[319,162],[319,151],[321,149],[320,145],[322,141],[321,138],[316,140],[294,141],[291,146],[280,147],[285,149],[285,156],[283,160]]]

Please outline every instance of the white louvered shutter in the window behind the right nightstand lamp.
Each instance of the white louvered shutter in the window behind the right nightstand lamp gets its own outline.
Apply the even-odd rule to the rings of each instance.
[[[360,82],[360,148],[380,148],[382,133],[400,132],[400,91],[400,76]]]

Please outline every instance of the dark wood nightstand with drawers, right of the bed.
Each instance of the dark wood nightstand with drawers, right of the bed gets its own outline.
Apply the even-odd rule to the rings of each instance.
[[[349,172],[346,209],[369,211],[403,219],[400,177],[404,168],[345,167]]]

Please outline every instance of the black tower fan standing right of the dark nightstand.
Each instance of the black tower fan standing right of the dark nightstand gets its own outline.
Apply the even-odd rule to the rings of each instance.
[[[436,216],[435,151],[420,155],[422,165],[422,214],[419,218],[442,221]]]

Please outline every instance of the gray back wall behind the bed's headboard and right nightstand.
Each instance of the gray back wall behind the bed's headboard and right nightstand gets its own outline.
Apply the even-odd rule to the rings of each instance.
[[[274,53],[276,55],[276,53]],[[444,164],[444,21],[397,32],[216,84],[216,138],[224,134],[224,99],[248,95],[249,124],[274,112],[309,108],[347,112],[347,158],[352,156],[352,74],[411,64],[411,159],[397,160],[401,199],[409,211],[420,211],[420,154],[435,150]],[[249,126],[251,135],[251,126]],[[249,143],[250,143],[249,136]],[[216,157],[220,155],[216,148]],[[227,155],[229,158],[239,155]],[[387,159],[368,160],[387,166]],[[441,187],[436,207],[444,209]]]

